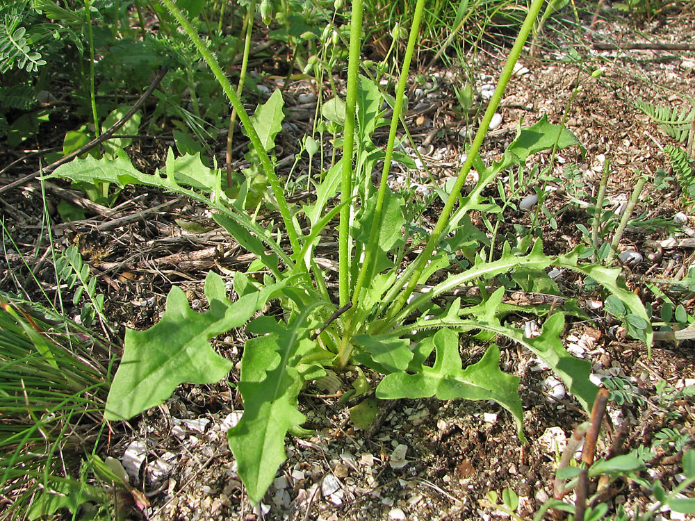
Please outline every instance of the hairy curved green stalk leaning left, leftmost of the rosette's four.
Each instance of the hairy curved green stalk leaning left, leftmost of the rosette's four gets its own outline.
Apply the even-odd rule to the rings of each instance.
[[[224,90],[224,94],[227,94],[227,99],[229,99],[231,105],[234,108],[236,108],[236,112],[238,113],[240,122],[246,129],[246,132],[251,140],[251,143],[253,144],[254,149],[256,149],[256,151],[259,154],[259,158],[261,158],[261,166],[263,167],[263,172],[265,173],[265,176],[268,177],[268,181],[270,182],[270,188],[272,188],[272,192],[275,195],[275,199],[277,199],[277,205],[279,207],[282,220],[285,224],[285,229],[287,230],[287,236],[290,240],[290,244],[292,245],[292,249],[295,252],[300,251],[300,242],[297,238],[297,229],[295,229],[295,225],[292,222],[290,208],[282,191],[282,185],[280,184],[280,181],[277,179],[277,176],[275,175],[275,170],[272,167],[272,163],[270,163],[268,151],[266,151],[263,147],[261,138],[259,138],[256,129],[254,129],[254,125],[252,124],[249,115],[246,113],[246,109],[241,103],[239,97],[236,95],[236,92],[234,92],[234,88],[232,88],[231,83],[229,83],[229,78],[227,78],[227,76],[224,75],[224,72],[222,72],[222,69],[220,68],[220,65],[217,63],[217,60],[215,60],[215,57],[205,46],[203,41],[200,39],[198,33],[195,31],[195,29],[193,29],[193,26],[190,25],[186,17],[183,16],[179,8],[177,8],[177,6],[174,5],[174,2],[172,0],[161,1],[169,10],[169,12],[172,13],[172,15],[174,15],[174,18],[177,19],[177,22],[181,24],[183,30],[186,31],[186,34],[188,34],[188,38],[190,38],[190,40],[195,45],[196,49],[198,49],[198,52],[206,61],[208,67],[210,67],[210,70],[215,76],[215,79],[217,79],[218,83],[220,83],[222,90]]]

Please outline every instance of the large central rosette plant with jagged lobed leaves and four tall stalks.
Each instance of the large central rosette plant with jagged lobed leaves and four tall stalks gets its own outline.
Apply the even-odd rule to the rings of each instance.
[[[394,97],[384,96],[370,78],[358,74],[361,3],[357,1],[352,6],[347,96],[345,101],[336,98],[323,107],[334,130],[343,131],[342,139],[336,140],[343,148],[343,159],[316,181],[316,201],[305,206],[288,202],[268,154],[283,117],[279,95],[274,94],[256,109],[254,117],[249,117],[236,90],[186,17],[171,0],[163,3],[193,40],[236,108],[256,157],[254,168],[269,185],[265,187],[263,204],[265,208],[277,209],[281,222],[272,222],[267,229],[256,224],[245,209],[247,197],[231,199],[222,190],[222,171],[204,166],[199,156],[174,158],[170,151],[163,172],[148,175],[139,172],[120,152],[113,159],[75,160],[51,174],[72,181],[146,185],[186,195],[215,210],[215,221],[257,256],[249,271],[260,272],[260,277],[243,272],[234,274],[236,301],[227,297],[222,278],[210,272],[205,282],[207,311],[195,313],[183,292],[172,288],[158,324],[147,331],[126,331],[122,362],[106,404],[108,419],[129,418],[161,404],[184,381],[205,383],[224,378],[231,370],[231,362],[215,354],[208,340],[241,326],[246,326],[246,331],[254,337],[246,342],[238,383],[245,413],[228,437],[238,472],[253,502],[263,498],[285,459],[286,433],[302,431],[304,415],[297,407],[304,382],[322,377],[326,367],[342,370],[347,365],[360,364],[383,374],[376,395],[384,399],[433,395],[440,399],[493,399],[512,414],[518,435],[523,438],[518,378],[500,370],[497,345],[489,344],[476,363],[466,367],[461,363],[461,333],[470,333],[480,342],[489,342],[500,335],[543,358],[582,406],[586,408],[593,402],[596,387],[589,381],[589,363],[573,358],[562,346],[564,313],[561,310],[556,309],[547,317],[541,336],[528,339],[521,329],[506,320],[516,308],[502,302],[503,288],[489,294],[484,292],[473,306],[467,302],[464,305],[461,299],[451,303],[439,299],[453,288],[484,287],[496,276],[515,270],[544,275],[547,268],[557,266],[593,278],[616,295],[630,313],[647,317],[637,296],[619,279],[619,270],[578,262],[582,247],[550,257],[543,253],[537,240],[533,245],[528,241],[523,249],[512,251],[505,244],[496,254],[487,254],[480,231],[471,224],[469,214],[474,210],[496,211],[496,205],[483,199],[482,190],[495,183],[501,172],[523,165],[532,154],[578,143],[569,131],[549,124],[542,117],[537,124],[518,129],[500,161],[486,166],[478,156],[542,0],[534,1],[529,10],[480,129],[468,149],[468,158],[450,191],[444,194],[444,208],[430,238],[404,270],[401,267],[406,254],[418,245],[407,244],[404,239],[404,203],[389,188],[386,179],[391,160],[397,157],[393,153],[395,133],[418,38],[423,0],[418,1],[414,11]],[[376,147],[371,139],[378,126],[389,124],[383,117],[384,101],[393,109],[385,150]],[[384,168],[377,188],[372,183],[372,172],[379,160]],[[461,197],[471,167],[480,174],[480,180],[466,197]],[[247,173],[240,192],[248,190],[250,179]],[[338,193],[340,200],[332,204]],[[333,226],[338,215],[336,297],[314,249],[321,233],[327,226]],[[307,226],[302,227],[300,223]],[[435,283],[429,292],[414,292],[418,284],[430,281],[436,271],[446,269],[452,252],[459,250],[468,255],[468,267],[464,271],[450,274],[443,282]],[[262,315],[248,322],[271,300],[279,301],[281,315]],[[548,313],[547,308],[524,311]],[[648,325],[645,338],[651,344]],[[430,365],[432,354],[435,360]]]

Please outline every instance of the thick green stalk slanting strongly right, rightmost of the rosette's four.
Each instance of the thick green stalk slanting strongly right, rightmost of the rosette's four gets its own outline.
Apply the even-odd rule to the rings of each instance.
[[[393,306],[391,306],[389,313],[386,315],[386,322],[388,322],[389,320],[391,320],[391,318],[398,314],[398,311],[400,311],[400,309],[404,306],[408,297],[415,289],[415,286],[417,285],[420,276],[423,274],[425,266],[427,266],[427,262],[430,261],[430,258],[432,257],[432,252],[434,251],[436,246],[439,245],[439,239],[441,238],[441,235],[449,221],[449,217],[454,208],[454,205],[460,197],[461,188],[463,188],[463,185],[466,181],[466,176],[468,176],[468,172],[471,171],[473,160],[475,160],[478,151],[480,151],[480,147],[487,133],[487,129],[490,126],[492,117],[495,114],[500,104],[500,101],[502,101],[502,95],[505,92],[505,88],[507,88],[509,78],[512,77],[512,73],[514,72],[514,65],[516,64],[516,61],[521,55],[521,51],[523,50],[524,44],[526,43],[528,35],[531,32],[534,20],[538,16],[538,13],[541,10],[544,1],[545,0],[534,0],[531,7],[528,10],[528,13],[526,14],[523,25],[521,26],[521,29],[519,30],[519,33],[516,36],[514,47],[512,47],[512,51],[509,52],[509,58],[507,58],[505,68],[502,69],[502,74],[500,74],[500,79],[497,82],[495,92],[492,94],[492,97],[490,98],[490,103],[487,106],[487,110],[485,111],[482,121],[480,122],[480,128],[477,130],[477,133],[475,133],[475,138],[473,139],[473,143],[471,144],[471,149],[468,150],[468,157],[466,158],[464,165],[461,167],[461,172],[459,172],[459,176],[456,180],[456,183],[452,188],[451,193],[448,199],[446,200],[446,203],[444,204],[444,208],[442,210],[441,215],[439,216],[439,220],[437,220],[436,225],[434,226],[434,230],[432,231],[432,235],[430,235],[430,240],[427,241],[425,249],[423,249],[422,253],[416,259],[416,270],[409,279],[409,281],[407,281],[407,287],[400,293],[398,299],[396,299]],[[480,190],[482,190],[482,188],[480,188]],[[473,193],[475,193],[475,190],[473,191]]]

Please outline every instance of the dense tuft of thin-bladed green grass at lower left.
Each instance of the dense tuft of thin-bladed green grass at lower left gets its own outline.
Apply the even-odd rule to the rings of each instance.
[[[81,465],[100,441],[110,362],[108,344],[89,329],[0,293],[0,487],[10,500],[0,518],[108,505]]]

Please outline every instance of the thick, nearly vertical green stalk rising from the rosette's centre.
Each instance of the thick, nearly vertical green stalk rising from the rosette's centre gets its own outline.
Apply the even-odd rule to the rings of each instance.
[[[167,0],[168,1],[168,0]],[[345,94],[345,131],[343,133],[343,175],[341,201],[352,197],[352,150],[354,148],[355,107],[357,106],[357,74],[362,35],[362,0],[352,2],[350,17],[350,51],[347,55],[347,92]],[[341,210],[338,228],[338,292],[340,305],[350,299],[350,205]]]

